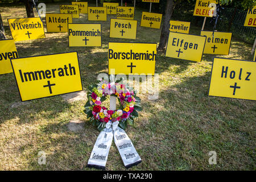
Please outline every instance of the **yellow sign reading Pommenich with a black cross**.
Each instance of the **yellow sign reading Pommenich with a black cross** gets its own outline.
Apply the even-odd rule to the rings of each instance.
[[[101,24],[68,24],[69,47],[101,46]]]

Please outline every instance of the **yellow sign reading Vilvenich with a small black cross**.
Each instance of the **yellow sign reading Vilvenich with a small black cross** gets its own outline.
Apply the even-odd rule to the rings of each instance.
[[[15,18],[8,19],[11,35],[14,41],[43,39],[43,22],[40,18]]]

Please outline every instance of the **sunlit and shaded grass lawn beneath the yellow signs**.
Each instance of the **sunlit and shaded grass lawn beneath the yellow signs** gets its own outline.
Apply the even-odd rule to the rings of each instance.
[[[148,11],[145,9],[143,11]],[[26,17],[23,6],[0,7],[6,35],[7,18]],[[19,57],[77,51],[84,89],[99,73],[108,73],[108,42],[159,43],[160,30],[140,27],[142,9],[135,10],[137,39],[109,38],[110,18],[102,24],[102,47],[69,48],[67,33],[46,33],[45,39],[16,42]],[[59,4],[47,4],[47,13],[59,13]],[[87,15],[73,19],[88,23]],[[98,22],[91,22],[98,23]],[[45,25],[45,21],[44,21]],[[44,26],[46,31],[46,26]],[[200,27],[190,34],[199,35]],[[252,45],[233,38],[230,59],[252,60]],[[165,57],[158,52],[159,98],[141,97],[143,111],[126,130],[142,163],[128,170],[255,170],[256,102],[209,97],[213,55],[201,63]],[[86,168],[99,132],[84,114],[84,101],[71,104],[61,96],[21,104],[13,73],[0,76],[0,170],[96,170]],[[67,129],[72,119],[84,129]],[[38,152],[46,152],[46,165],[38,164]],[[217,152],[217,164],[209,165],[209,151]],[[126,170],[112,143],[107,170]]]

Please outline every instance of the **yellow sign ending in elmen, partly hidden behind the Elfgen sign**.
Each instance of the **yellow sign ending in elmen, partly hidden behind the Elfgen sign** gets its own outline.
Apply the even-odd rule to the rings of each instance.
[[[232,33],[201,31],[201,36],[206,36],[204,53],[213,55],[229,55]]]

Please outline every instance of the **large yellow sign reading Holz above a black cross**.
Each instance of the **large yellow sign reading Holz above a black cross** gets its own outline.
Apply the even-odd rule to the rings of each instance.
[[[256,63],[214,58],[209,96],[256,100]]]

